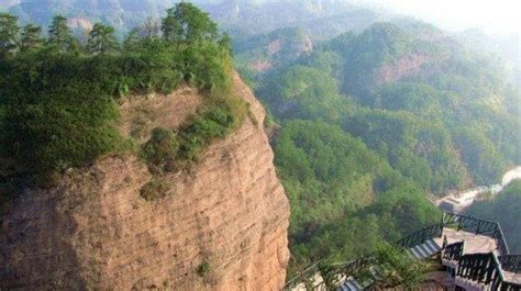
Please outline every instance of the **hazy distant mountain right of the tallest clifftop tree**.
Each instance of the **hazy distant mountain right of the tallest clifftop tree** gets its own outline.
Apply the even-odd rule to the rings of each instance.
[[[379,18],[352,1],[335,0],[230,0],[202,2],[201,7],[239,38],[284,27],[306,29],[313,38],[326,38],[346,30],[359,31]]]

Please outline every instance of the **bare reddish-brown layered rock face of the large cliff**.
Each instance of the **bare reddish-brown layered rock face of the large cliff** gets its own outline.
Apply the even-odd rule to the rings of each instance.
[[[165,199],[141,198],[153,177],[133,156],[73,170],[54,189],[25,190],[0,228],[0,290],[279,289],[289,204],[264,111],[234,79],[256,121],[246,119],[190,169],[156,177]]]

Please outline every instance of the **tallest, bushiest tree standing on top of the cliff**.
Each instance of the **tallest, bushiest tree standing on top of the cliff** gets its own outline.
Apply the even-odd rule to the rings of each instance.
[[[188,44],[201,41],[215,41],[219,29],[209,14],[191,3],[180,2],[167,10],[163,19],[162,32],[166,41]]]

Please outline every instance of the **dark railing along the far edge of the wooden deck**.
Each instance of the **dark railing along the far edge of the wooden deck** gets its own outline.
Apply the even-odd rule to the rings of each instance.
[[[499,254],[510,254],[503,232],[501,231],[501,226],[497,222],[478,220],[475,217],[453,213],[443,213],[442,226],[456,227],[458,231],[463,230],[468,233],[495,238],[498,244]]]

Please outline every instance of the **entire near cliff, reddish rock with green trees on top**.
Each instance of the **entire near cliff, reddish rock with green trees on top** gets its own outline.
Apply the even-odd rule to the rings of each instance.
[[[170,34],[121,44],[97,23],[86,46],[64,18],[18,45],[0,15],[1,290],[284,286],[289,203],[264,108],[228,35],[175,9],[190,13]]]

